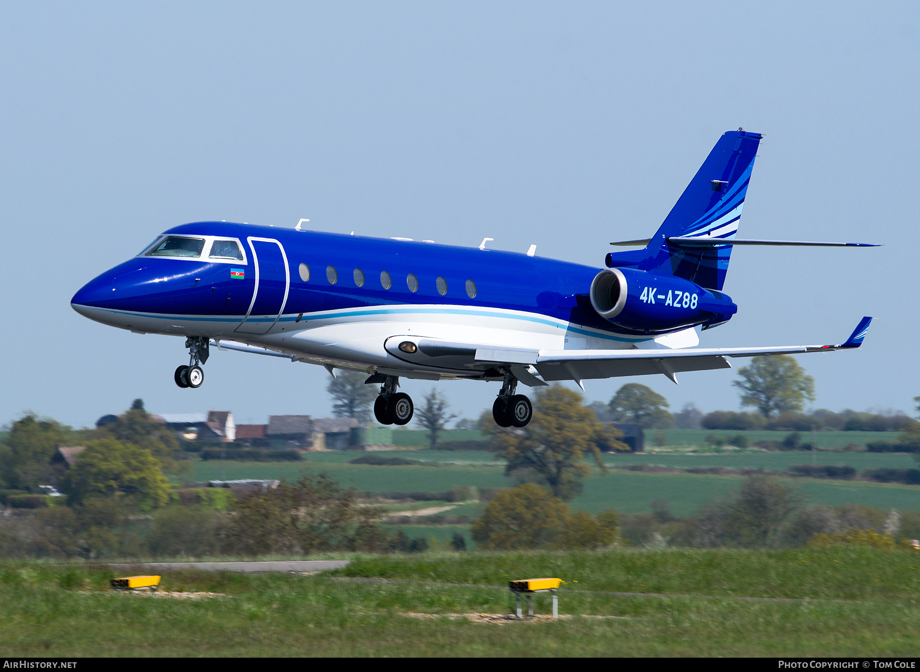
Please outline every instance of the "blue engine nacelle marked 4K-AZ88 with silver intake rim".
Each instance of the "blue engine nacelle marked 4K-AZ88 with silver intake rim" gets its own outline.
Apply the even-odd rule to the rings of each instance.
[[[673,275],[607,268],[594,276],[591,305],[615,325],[646,333],[721,323],[738,311],[731,298]],[[715,326],[715,323],[713,326]]]

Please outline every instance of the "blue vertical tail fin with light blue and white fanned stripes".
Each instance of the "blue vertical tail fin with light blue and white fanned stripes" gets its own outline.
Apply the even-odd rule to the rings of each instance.
[[[722,133],[671,213],[651,238],[650,253],[639,266],[721,290],[731,247],[688,249],[669,245],[672,236],[734,238],[751,180],[753,159],[763,135],[742,129]]]

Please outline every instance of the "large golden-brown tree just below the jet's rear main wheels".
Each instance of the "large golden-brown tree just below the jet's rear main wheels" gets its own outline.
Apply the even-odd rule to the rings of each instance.
[[[530,470],[560,499],[570,500],[581,492],[581,479],[591,473],[583,456],[591,453],[606,473],[599,446],[628,450],[617,439],[623,434],[597,421],[594,411],[583,406],[581,394],[554,385],[536,393],[534,419],[523,429],[492,432],[491,450],[507,460],[505,475]]]

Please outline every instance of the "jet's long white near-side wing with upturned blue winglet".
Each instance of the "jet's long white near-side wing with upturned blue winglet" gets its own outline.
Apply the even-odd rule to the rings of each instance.
[[[871,318],[863,318],[850,337],[839,345],[786,345],[765,348],[686,348],[683,350],[540,350],[502,351],[477,349],[477,361],[534,366],[544,380],[581,380],[620,376],[664,374],[677,382],[674,374],[684,371],[731,368],[727,357],[756,357],[769,354],[825,353],[858,348],[866,337]],[[512,369],[513,370],[513,369]],[[519,377],[521,382],[533,383]]]

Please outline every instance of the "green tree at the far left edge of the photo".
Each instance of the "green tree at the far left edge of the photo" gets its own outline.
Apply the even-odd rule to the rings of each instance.
[[[49,461],[55,446],[66,441],[68,429],[32,412],[13,423],[0,446],[0,479],[6,487],[31,490],[46,480],[55,481],[55,469]]]

